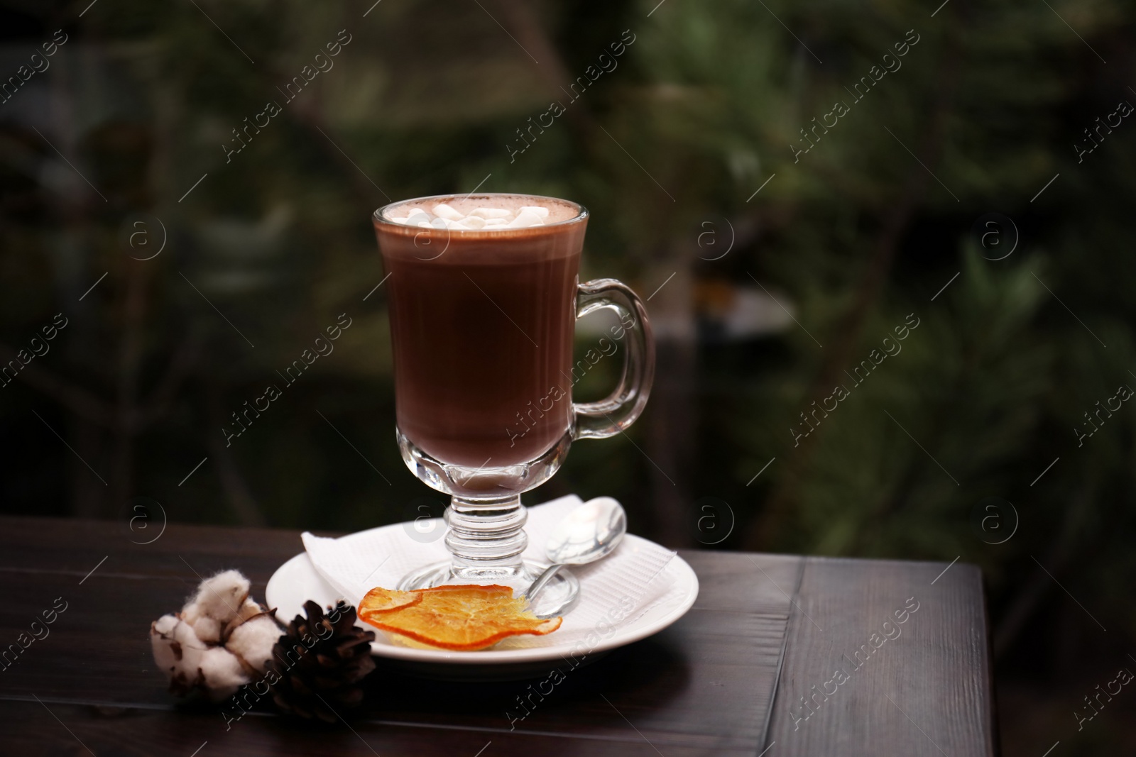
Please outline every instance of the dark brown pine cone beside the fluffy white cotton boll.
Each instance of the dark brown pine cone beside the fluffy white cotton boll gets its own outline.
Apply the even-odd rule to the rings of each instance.
[[[358,684],[375,670],[375,632],[356,628],[356,608],[342,600],[327,615],[311,600],[303,611],[308,617],[296,615],[273,648],[273,699],[285,712],[334,723],[362,701]]]

